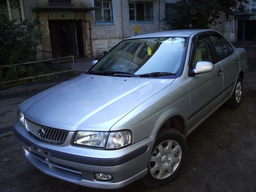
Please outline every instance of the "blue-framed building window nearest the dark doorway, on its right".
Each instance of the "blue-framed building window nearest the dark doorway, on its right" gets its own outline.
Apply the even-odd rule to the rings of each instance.
[[[95,11],[96,23],[114,23],[111,1],[94,1],[94,6],[100,9]]]

